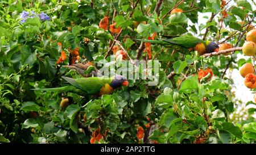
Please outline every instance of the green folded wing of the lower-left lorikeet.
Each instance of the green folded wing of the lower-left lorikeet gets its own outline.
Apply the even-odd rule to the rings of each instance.
[[[90,77],[90,78],[69,78],[62,77],[71,85],[85,91],[88,94],[96,94],[106,83],[110,84],[113,78],[107,77]]]

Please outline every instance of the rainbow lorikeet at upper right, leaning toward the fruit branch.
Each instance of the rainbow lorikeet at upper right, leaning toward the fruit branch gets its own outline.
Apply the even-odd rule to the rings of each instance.
[[[204,41],[194,36],[178,36],[170,39],[146,40],[137,39],[144,42],[161,44],[165,46],[178,45],[184,48],[194,48],[200,55],[204,53],[218,52],[218,44],[213,41]]]

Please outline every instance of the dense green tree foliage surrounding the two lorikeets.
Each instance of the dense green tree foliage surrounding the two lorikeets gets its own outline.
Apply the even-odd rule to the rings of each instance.
[[[233,83],[243,81],[225,75],[228,68],[239,69],[251,58],[239,58],[242,51],[206,57],[178,46],[137,40],[192,35],[242,47],[250,24],[255,24],[255,2],[230,3],[1,1],[0,142],[254,143],[255,118],[249,115],[241,122],[229,118],[238,102],[230,93]],[[170,14],[177,8],[183,12]],[[204,17],[207,23],[199,24],[201,13],[210,15]],[[28,15],[20,18],[20,14]],[[107,29],[99,27],[104,17],[109,20]],[[104,60],[118,69],[120,58],[110,59],[114,44],[122,45],[132,60],[159,60],[158,85],[149,86],[147,79],[129,80],[128,87],[101,97],[32,90],[64,86],[61,76],[80,78],[75,70],[63,67],[71,64],[72,57],[74,62],[94,64]],[[72,54],[76,48],[79,56]],[[197,72],[207,68],[214,76],[207,73],[199,81]],[[60,107],[63,98],[69,100],[66,108]],[[255,108],[248,112],[254,114]]]

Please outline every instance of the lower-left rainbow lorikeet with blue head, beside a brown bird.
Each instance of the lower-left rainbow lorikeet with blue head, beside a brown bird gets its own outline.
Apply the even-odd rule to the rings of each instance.
[[[59,92],[71,92],[76,93],[81,96],[84,95],[104,95],[104,94],[112,94],[114,89],[117,89],[121,86],[128,86],[129,82],[127,78],[123,76],[113,76],[113,77],[88,77],[88,78],[69,78],[62,77],[70,83],[71,85],[56,87],[56,88],[48,88],[48,89],[34,89],[40,91],[59,91]]]

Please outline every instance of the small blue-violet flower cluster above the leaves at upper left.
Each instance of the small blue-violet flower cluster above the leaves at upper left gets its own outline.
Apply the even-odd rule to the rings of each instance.
[[[22,19],[20,21],[20,24],[26,22],[27,18],[34,18],[35,15],[38,16],[40,18],[40,20],[42,20],[42,21],[50,20],[49,16],[44,12],[37,15],[34,11],[28,12],[28,11],[23,10],[22,13],[20,13],[20,18]]]

